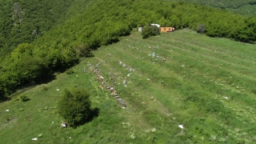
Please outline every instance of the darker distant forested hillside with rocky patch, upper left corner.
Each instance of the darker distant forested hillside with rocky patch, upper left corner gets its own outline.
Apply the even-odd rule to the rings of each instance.
[[[72,0],[0,0],[0,56],[62,22]]]

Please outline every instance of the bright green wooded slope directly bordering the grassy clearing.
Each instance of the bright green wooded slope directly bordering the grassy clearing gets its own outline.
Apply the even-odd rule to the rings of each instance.
[[[18,45],[3,59],[1,95],[11,94],[18,86],[40,82],[56,70],[74,66],[79,57],[90,55],[90,50],[118,42],[139,25],[159,23],[174,26],[176,30],[202,27],[201,32],[210,37],[256,41],[256,18],[207,6],[139,0],[74,1],[74,4],[66,11],[64,22],[57,23],[33,42]]]

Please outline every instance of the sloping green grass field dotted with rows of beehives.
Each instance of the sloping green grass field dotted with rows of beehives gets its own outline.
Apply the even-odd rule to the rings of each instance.
[[[30,101],[21,102],[16,94],[2,102],[0,143],[256,142],[255,45],[192,30],[148,39],[132,35],[95,50],[94,57],[72,68],[74,74],[58,74],[52,82],[22,92]],[[125,109],[99,87],[88,62],[114,86]],[[63,129],[58,100],[63,90],[76,87],[90,92],[92,106],[100,112],[83,126]]]

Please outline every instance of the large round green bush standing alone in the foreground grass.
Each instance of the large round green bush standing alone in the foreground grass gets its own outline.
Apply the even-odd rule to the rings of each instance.
[[[87,122],[91,113],[90,95],[84,89],[65,90],[58,102],[58,112],[71,126]]]

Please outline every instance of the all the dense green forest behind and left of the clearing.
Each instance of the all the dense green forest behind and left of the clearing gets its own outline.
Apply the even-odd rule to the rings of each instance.
[[[247,1],[243,1],[247,2]],[[250,3],[250,1],[248,1]],[[158,23],[255,43],[256,18],[187,2],[140,0],[0,2],[0,94],[69,69],[90,50]],[[228,6],[240,6],[230,4]]]

